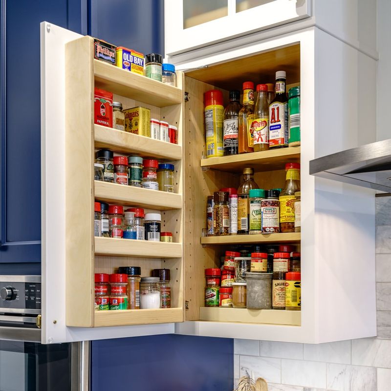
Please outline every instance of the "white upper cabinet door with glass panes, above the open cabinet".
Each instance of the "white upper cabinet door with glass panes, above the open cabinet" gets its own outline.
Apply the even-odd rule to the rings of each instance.
[[[311,16],[310,0],[167,0],[166,55]]]

